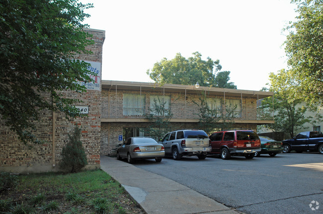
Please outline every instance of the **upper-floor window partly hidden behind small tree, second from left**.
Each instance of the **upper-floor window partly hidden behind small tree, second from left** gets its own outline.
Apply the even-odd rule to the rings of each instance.
[[[169,115],[170,96],[150,95],[150,110],[154,115]]]

